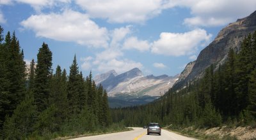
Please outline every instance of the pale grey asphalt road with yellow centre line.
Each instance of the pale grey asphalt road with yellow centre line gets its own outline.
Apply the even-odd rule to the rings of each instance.
[[[79,137],[74,140],[192,140],[191,137],[181,136],[179,134],[175,134],[173,132],[169,132],[167,130],[161,131],[161,136],[158,134],[150,134],[147,135],[147,129],[132,127],[131,131],[127,132],[118,132],[112,134],[103,134],[97,136],[90,136],[90,137]]]

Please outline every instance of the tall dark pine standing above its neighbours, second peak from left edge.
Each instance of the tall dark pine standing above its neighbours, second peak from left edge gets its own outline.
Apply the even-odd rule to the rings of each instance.
[[[35,104],[38,112],[49,106],[51,67],[52,52],[48,45],[43,43],[37,54],[35,70]]]

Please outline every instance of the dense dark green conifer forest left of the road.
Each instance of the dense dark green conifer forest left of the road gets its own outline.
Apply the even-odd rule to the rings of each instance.
[[[0,139],[50,139],[105,130],[111,124],[108,95],[92,73],[52,70],[52,52],[43,43],[26,73],[24,52],[15,32],[0,27]]]

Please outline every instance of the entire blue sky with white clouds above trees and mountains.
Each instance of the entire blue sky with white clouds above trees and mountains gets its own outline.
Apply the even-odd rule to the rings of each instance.
[[[256,0],[0,0],[0,25],[15,31],[24,60],[45,42],[52,69],[93,76],[138,67],[143,74],[182,72],[218,32],[256,10]]]

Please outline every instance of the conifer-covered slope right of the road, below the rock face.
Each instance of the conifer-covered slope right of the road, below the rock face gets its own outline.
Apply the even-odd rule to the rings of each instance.
[[[216,127],[223,123],[255,125],[256,32],[244,37],[239,53],[230,49],[222,66],[211,65],[204,77],[171,88],[145,106],[111,110],[113,122],[143,126]]]

